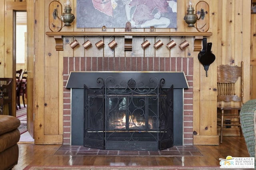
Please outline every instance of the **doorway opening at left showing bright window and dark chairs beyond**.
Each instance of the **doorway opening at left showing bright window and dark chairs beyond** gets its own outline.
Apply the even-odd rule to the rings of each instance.
[[[27,12],[14,12],[14,55],[16,59],[16,117],[20,119],[20,141],[34,141],[27,123]],[[24,135],[26,136],[24,138]]]

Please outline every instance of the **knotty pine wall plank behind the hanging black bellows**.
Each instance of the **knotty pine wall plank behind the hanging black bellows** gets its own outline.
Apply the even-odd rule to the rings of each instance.
[[[216,21],[218,18],[218,6],[216,3],[206,1],[211,8],[209,9],[210,20]],[[210,24],[208,31],[213,31],[214,35],[217,35],[216,25]],[[217,55],[217,36],[211,36],[207,39],[207,42],[212,42],[212,53]],[[194,62],[199,62],[198,60]],[[196,76],[194,76],[196,77]],[[216,61],[210,64],[208,69],[208,76],[206,77],[206,70],[204,66],[200,64],[200,135],[216,135]]]

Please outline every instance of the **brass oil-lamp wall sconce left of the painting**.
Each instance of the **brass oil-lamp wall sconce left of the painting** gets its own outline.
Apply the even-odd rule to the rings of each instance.
[[[52,16],[54,18],[54,20],[56,20],[56,18],[62,20],[62,22],[64,22],[64,26],[71,26],[70,23],[72,23],[75,19],[74,14],[71,14],[71,2],[70,0],[66,0],[65,4],[65,8],[64,8],[64,13],[61,14],[61,16],[58,16],[58,9],[54,8],[54,11],[52,13]],[[56,25],[54,25],[55,27],[57,27]]]

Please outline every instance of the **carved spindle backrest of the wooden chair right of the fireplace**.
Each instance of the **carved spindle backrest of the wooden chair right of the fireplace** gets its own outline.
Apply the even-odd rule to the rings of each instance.
[[[241,66],[220,65],[217,67],[217,101],[244,103],[243,65],[244,63],[241,62]],[[236,83],[238,80],[240,80],[239,84]],[[236,86],[241,88],[239,96],[236,94]]]

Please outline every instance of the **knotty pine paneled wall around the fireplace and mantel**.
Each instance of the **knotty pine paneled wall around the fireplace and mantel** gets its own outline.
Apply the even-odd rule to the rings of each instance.
[[[8,0],[5,0],[8,1]],[[10,0],[13,1],[13,0]],[[65,0],[58,0],[64,5]],[[76,0],[72,1],[72,13],[76,15]],[[188,0],[186,0],[188,1]],[[156,31],[187,31],[194,32],[195,28],[187,27],[183,20],[186,13],[186,1],[179,1],[177,6],[177,29],[157,29]],[[194,4],[200,0],[192,0]],[[203,66],[197,60],[198,52],[193,51],[193,46],[185,50],[174,48],[170,51],[157,50],[142,51],[141,38],[133,39],[134,51],[124,52],[115,49],[113,51],[95,49],[85,52],[79,48],[72,50],[64,47],[64,51],[55,50],[53,37],[45,35],[50,31],[48,26],[48,6],[52,0],[27,0],[28,10],[28,62],[34,61],[32,81],[34,82],[33,93],[33,113],[35,113],[35,143],[50,144],[62,143],[63,134],[63,57],[194,57],[194,80],[193,80],[193,127],[197,135],[194,135],[194,144],[214,145],[218,139],[216,125],[216,67],[220,64],[239,65],[244,61],[244,73],[250,74],[250,1],[249,0],[205,0],[209,4],[210,28],[212,36],[208,37],[208,42],[212,42],[212,52],[216,56],[214,63],[210,65],[208,77],[206,77]],[[10,30],[8,18],[4,18],[5,8],[0,7],[0,21],[5,23],[0,25],[1,37],[7,37],[7,30]],[[33,14],[34,13],[34,14]],[[32,27],[34,25],[34,27]],[[30,32],[31,31],[31,32]],[[33,31],[33,33],[32,33]],[[101,31],[100,29],[80,29],[76,28],[76,20],[71,27],[64,27],[61,31]],[[124,31],[124,29],[108,29],[108,31]],[[148,29],[133,29],[132,31],[148,31]],[[4,33],[3,33],[4,32]],[[29,33],[30,32],[30,33]],[[66,38],[66,37],[65,37]],[[105,37],[108,39],[109,37]],[[94,38],[96,41],[96,37]],[[163,37],[164,43],[169,37]],[[78,37],[79,41],[84,41],[83,37]],[[180,39],[175,39],[178,43]],[[187,39],[193,43],[192,38]],[[5,41],[5,42],[4,42]],[[116,39],[122,44],[123,40]],[[154,41],[154,40],[152,40]],[[65,40],[64,40],[65,42]],[[10,54],[10,41],[5,38],[0,39],[0,76],[8,76],[11,70],[12,55]],[[65,45],[64,45],[65,46]],[[67,46],[67,45],[66,45]],[[118,56],[117,56],[118,54]],[[154,56],[152,56],[152,54]],[[4,57],[3,57],[4,56]],[[32,57],[33,56],[33,57]],[[32,60],[34,58],[34,60]],[[3,65],[4,63],[4,65]],[[197,75],[197,76],[196,76]],[[250,84],[250,77],[244,77],[244,84]],[[244,89],[245,101],[250,99],[250,86]]]

